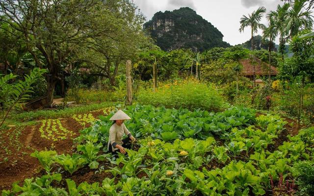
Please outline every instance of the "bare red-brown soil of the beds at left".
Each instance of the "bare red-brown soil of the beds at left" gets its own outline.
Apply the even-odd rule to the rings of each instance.
[[[100,115],[104,115],[102,110],[92,111],[91,113],[95,118]],[[79,130],[83,129],[82,125],[71,117],[60,119],[60,121],[63,127],[76,133],[73,138],[77,137],[79,135]],[[41,176],[44,174],[37,158],[30,156],[30,154],[35,150],[51,149],[57,151],[58,154],[72,154],[74,152],[73,138],[69,137],[66,140],[59,140],[56,142],[47,140],[40,136],[40,126],[41,123],[39,122],[37,125],[26,126],[21,130],[21,134],[17,139],[21,144],[21,148],[19,150],[16,149],[16,146],[12,144],[9,139],[10,133],[15,128],[11,128],[2,132],[2,144],[6,145],[7,148],[12,152],[10,155],[8,155],[4,150],[0,149],[0,192],[3,189],[11,189],[12,183],[15,181],[23,182],[25,178]],[[90,124],[87,123],[86,126],[90,126]],[[5,157],[8,159],[7,161],[4,160]],[[63,176],[63,179],[71,177],[74,181],[80,183],[84,181],[101,182],[106,176],[110,178],[113,177],[111,173],[108,172],[95,174],[95,171],[91,171],[89,168],[86,169],[87,172],[82,173],[83,171],[84,170],[81,169],[79,172],[74,173],[73,176]],[[61,183],[66,182],[63,180]]]

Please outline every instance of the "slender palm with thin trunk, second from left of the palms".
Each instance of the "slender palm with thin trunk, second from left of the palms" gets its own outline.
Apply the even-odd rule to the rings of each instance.
[[[271,49],[273,40],[278,35],[278,31],[276,29],[275,19],[271,13],[268,13],[266,16],[268,20],[268,26],[263,29],[263,37],[269,39],[268,51],[269,51],[269,70],[268,70],[268,85],[270,85],[270,71],[271,71]]]

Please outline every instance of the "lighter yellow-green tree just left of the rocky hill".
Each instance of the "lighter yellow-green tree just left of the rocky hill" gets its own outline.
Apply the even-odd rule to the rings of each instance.
[[[92,68],[92,74],[108,78],[115,86],[120,65],[134,59],[140,45],[147,42],[142,32],[145,18],[129,0],[109,0],[107,4],[103,11],[110,9],[111,14],[98,17],[95,23],[109,27],[111,32],[90,38],[87,51],[79,56]]]

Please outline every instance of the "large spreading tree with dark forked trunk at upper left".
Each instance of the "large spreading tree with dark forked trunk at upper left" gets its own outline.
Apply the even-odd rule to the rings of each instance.
[[[120,24],[132,26],[125,17],[133,11],[128,0],[5,0],[0,1],[0,20],[23,34],[26,49],[37,67],[47,67],[48,103],[53,101],[55,84],[62,66],[80,50],[110,48],[112,56],[119,37]],[[135,14],[135,13],[134,13]],[[125,22],[126,21],[126,22]],[[130,28],[132,30],[132,28]],[[130,33],[130,31],[124,33]],[[125,45],[125,47],[128,47]],[[36,52],[39,51],[39,52]],[[104,54],[104,53],[102,53]],[[44,65],[39,55],[45,57]],[[120,55],[123,55],[120,53]]]

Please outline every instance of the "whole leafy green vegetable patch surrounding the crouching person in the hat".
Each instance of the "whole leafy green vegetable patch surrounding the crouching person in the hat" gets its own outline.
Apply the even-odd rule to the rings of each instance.
[[[2,195],[293,195],[294,166],[313,159],[313,127],[290,136],[284,119],[253,109],[214,113],[136,104],[126,113],[132,120],[125,124],[138,138],[128,156],[106,152],[111,112],[79,131],[73,153],[31,153],[42,175]],[[87,171],[98,177],[80,182]]]

